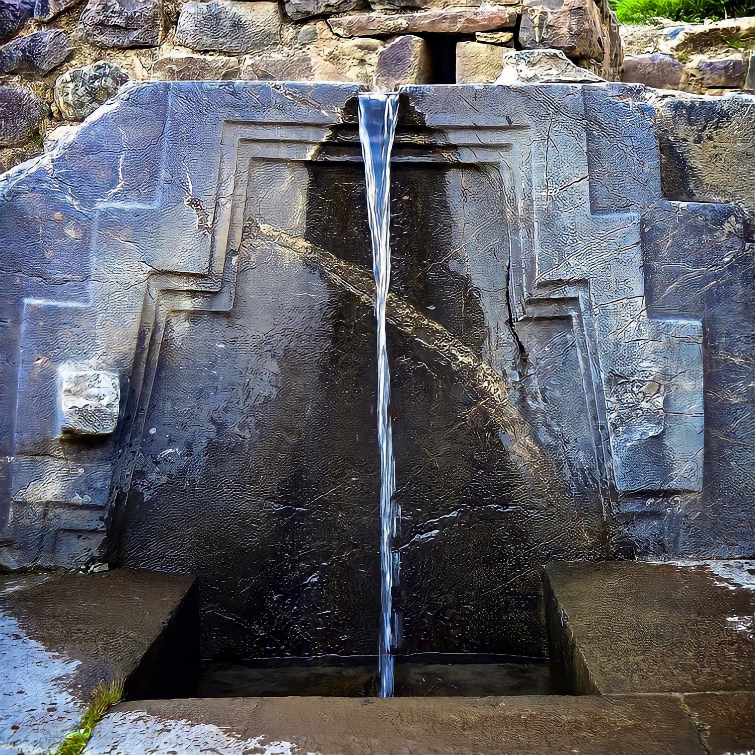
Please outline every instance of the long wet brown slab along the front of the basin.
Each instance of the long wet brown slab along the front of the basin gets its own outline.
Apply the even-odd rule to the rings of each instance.
[[[88,755],[703,755],[673,695],[504,698],[227,698],[121,704]]]

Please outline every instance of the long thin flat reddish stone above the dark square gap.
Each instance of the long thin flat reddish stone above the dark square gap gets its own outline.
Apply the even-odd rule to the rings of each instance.
[[[473,34],[507,29],[516,23],[516,10],[505,5],[476,8],[432,8],[402,15],[354,14],[331,18],[331,29],[341,36],[393,36],[396,34]]]

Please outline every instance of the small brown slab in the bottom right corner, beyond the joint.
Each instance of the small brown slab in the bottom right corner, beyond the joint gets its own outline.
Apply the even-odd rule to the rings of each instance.
[[[751,753],[755,747],[755,692],[683,695],[709,755]]]

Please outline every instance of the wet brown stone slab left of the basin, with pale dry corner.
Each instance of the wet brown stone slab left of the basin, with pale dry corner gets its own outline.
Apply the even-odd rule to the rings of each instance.
[[[193,577],[118,569],[3,578],[0,749],[47,751],[100,680],[186,694],[199,661]]]

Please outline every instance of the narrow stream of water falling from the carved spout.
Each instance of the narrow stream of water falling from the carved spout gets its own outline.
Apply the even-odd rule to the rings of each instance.
[[[398,581],[398,557],[393,550],[401,510],[393,500],[396,479],[390,430],[390,368],[385,337],[386,305],[390,284],[390,150],[396,133],[399,95],[371,92],[359,95],[359,141],[365,162],[367,213],[372,239],[377,318],[377,442],[380,445],[381,490],[381,633],[378,649],[381,698],[393,695],[393,649],[396,619],[393,586]]]

